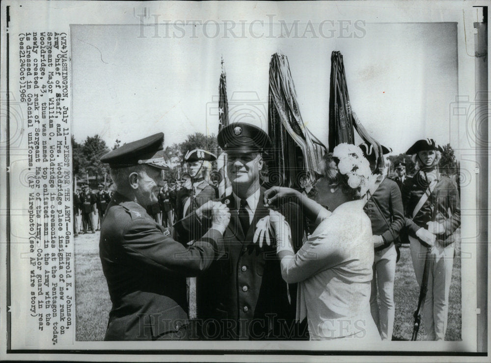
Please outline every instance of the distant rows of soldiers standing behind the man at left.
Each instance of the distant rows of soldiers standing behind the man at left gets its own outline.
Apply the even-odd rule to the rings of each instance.
[[[209,183],[217,188],[216,183]],[[112,187],[112,186],[111,186]],[[74,207],[74,234],[95,233],[100,230],[104,214],[111,200],[113,191],[111,187],[99,184],[98,190],[93,191],[84,183],[73,194]],[[168,227],[172,232],[172,224],[178,216],[183,215],[182,208],[185,200],[191,194],[191,177],[184,174],[180,180],[166,182],[159,193],[159,202],[148,208],[148,214],[159,224]],[[179,207],[181,206],[181,208]]]

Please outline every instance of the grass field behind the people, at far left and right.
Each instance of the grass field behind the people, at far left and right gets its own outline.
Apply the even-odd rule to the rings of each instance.
[[[457,238],[459,240],[459,238]],[[461,340],[461,259],[456,246],[456,258],[450,286],[450,303],[446,340]],[[111,302],[108,286],[99,259],[99,232],[82,234],[75,238],[75,289],[77,332],[76,339],[94,341],[104,339]],[[394,299],[396,304],[394,335],[409,340],[413,317],[419,295],[414,277],[409,247],[401,249],[401,259],[396,265]],[[424,327],[418,340],[424,340]]]

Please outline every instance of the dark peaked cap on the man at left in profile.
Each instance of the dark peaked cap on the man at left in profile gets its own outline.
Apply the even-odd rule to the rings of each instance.
[[[164,134],[161,132],[109,151],[101,162],[109,164],[111,168],[146,164],[163,170],[170,169],[164,160]]]

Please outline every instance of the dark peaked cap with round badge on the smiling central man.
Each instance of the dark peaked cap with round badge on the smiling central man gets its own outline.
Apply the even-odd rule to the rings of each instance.
[[[271,147],[270,137],[257,126],[235,122],[218,133],[218,145],[227,152],[246,154],[265,152]]]

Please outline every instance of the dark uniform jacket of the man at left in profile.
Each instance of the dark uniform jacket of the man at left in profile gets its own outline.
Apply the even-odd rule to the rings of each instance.
[[[99,249],[112,302],[105,340],[188,338],[186,277],[223,253],[221,234],[210,229],[186,248],[142,206],[115,193]]]

